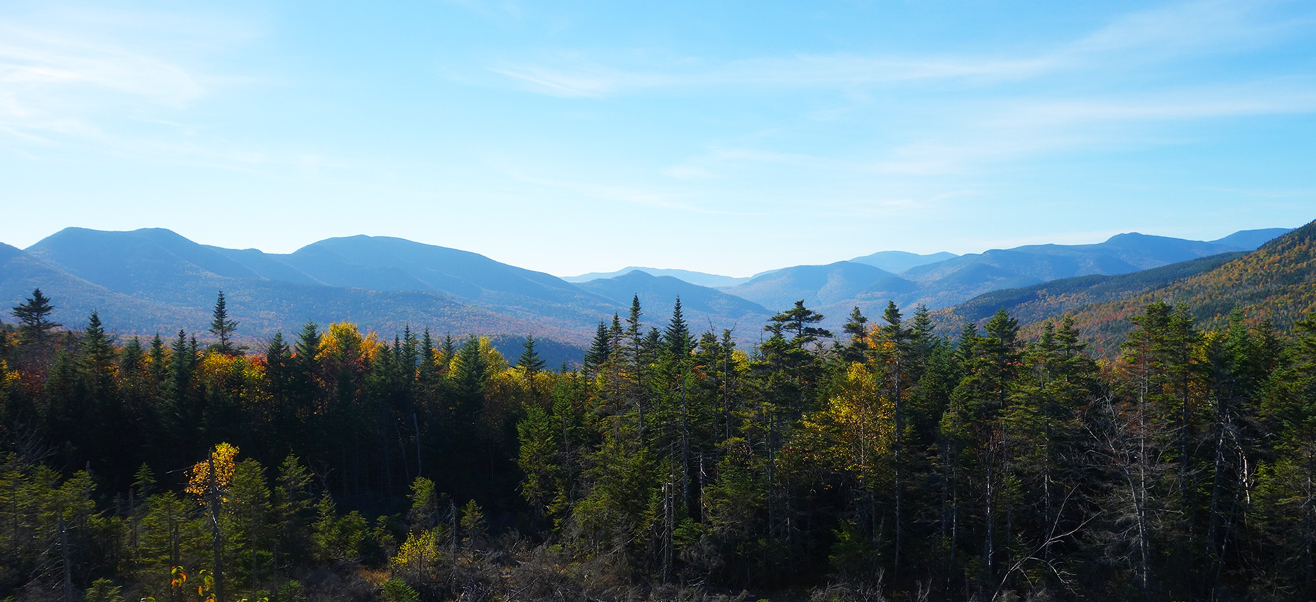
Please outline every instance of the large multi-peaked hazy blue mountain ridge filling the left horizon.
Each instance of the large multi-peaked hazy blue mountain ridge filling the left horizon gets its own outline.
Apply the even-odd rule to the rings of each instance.
[[[393,241],[347,245],[329,241],[288,261],[296,253],[217,249],[163,229],[68,228],[16,256],[0,271],[0,291],[21,300],[21,295],[39,286],[57,299],[57,307],[63,303],[79,312],[89,311],[88,304],[100,307],[107,325],[116,332],[151,333],[159,324],[204,335],[216,292],[224,290],[229,311],[241,323],[240,335],[250,337],[292,332],[308,320],[321,324],[350,320],[384,333],[411,324],[459,335],[534,332],[544,339],[582,342],[600,316],[617,310],[615,303],[551,275],[505,266],[474,253],[451,253],[462,260],[451,262],[457,275],[417,267],[426,249],[418,253],[421,260],[393,258],[390,261],[396,265],[388,265],[388,249],[429,246]],[[39,270],[34,273],[33,266]],[[461,278],[476,270],[488,277],[478,282]],[[354,282],[343,274],[362,278]],[[475,299],[438,290],[434,283],[443,282],[443,277],[455,283],[450,288]],[[355,286],[363,283],[392,286]],[[496,290],[500,283],[511,290]],[[136,314],[161,317],[154,321],[129,317]],[[116,317],[121,321],[114,321]],[[84,319],[86,315],[76,316],[70,324],[82,324]]]

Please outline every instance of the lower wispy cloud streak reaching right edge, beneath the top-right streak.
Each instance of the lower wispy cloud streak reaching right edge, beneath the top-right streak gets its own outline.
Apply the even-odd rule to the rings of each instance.
[[[907,134],[917,138],[867,157],[713,148],[665,173],[678,179],[716,179],[729,171],[763,166],[812,171],[819,177],[825,173],[928,177],[966,173],[1040,153],[1177,145],[1186,141],[1157,136],[1145,124],[1316,112],[1316,80],[1271,79],[1088,99],[988,99],[979,104],[970,117],[925,124]]]

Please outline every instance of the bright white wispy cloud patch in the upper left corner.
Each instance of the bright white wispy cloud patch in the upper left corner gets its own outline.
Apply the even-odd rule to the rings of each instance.
[[[0,145],[11,151],[70,161],[66,150],[76,149],[263,175],[361,169],[318,150],[236,144],[192,116],[255,82],[215,66],[259,36],[250,22],[100,9],[3,17]]]

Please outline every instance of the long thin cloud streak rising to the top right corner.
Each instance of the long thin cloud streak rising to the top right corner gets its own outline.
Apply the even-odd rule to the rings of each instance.
[[[992,86],[1094,68],[1119,71],[1128,63],[1237,51],[1309,32],[1309,20],[1273,20],[1270,3],[1205,0],[1134,12],[1071,42],[1030,55],[797,54],[719,61],[700,57],[555,51],[494,65],[490,71],[525,90],[553,96],[600,97],[645,90],[816,90],[962,80]],[[657,62],[662,67],[645,67]],[[629,63],[629,65],[628,65]],[[638,63],[638,66],[637,66]]]

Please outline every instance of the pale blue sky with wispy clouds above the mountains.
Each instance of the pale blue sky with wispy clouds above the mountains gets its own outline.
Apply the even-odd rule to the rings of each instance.
[[[0,4],[0,241],[570,275],[1316,219],[1316,3]]]

